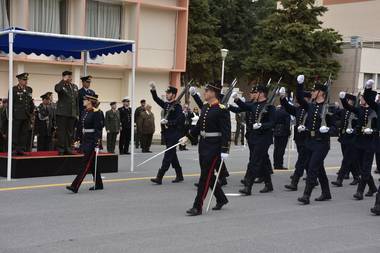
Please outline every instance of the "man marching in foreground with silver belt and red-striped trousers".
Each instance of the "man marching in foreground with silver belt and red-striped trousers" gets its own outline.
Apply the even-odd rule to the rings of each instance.
[[[201,134],[198,147],[199,164],[201,166],[198,192],[193,208],[186,211],[191,215],[202,214],[203,201],[206,198],[208,188],[214,188],[216,180],[215,166],[220,167],[221,158],[228,158],[231,142],[230,112],[218,101],[222,85],[209,82],[204,89],[203,95],[206,102],[199,117],[200,124],[196,125],[190,133],[180,139],[181,145],[184,145],[189,138],[195,139]],[[223,205],[228,203],[228,200],[219,183],[216,184],[214,195],[217,204],[212,210],[220,210]]]

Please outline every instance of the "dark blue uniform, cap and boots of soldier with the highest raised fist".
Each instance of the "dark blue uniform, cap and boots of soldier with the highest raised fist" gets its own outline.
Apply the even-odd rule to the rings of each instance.
[[[331,199],[329,181],[326,175],[323,161],[325,160],[330,150],[330,133],[336,130],[336,113],[334,108],[330,108],[329,111],[332,115],[326,115],[326,125],[329,128],[327,133],[321,133],[319,131],[321,127],[321,111],[323,108],[323,102],[321,103],[308,103],[304,100],[302,95],[303,83],[297,83],[296,98],[299,105],[307,111],[307,139],[306,148],[307,156],[310,159],[309,172],[306,177],[306,187],[304,195],[298,198],[298,201],[302,203],[310,203],[311,192],[317,183],[317,177],[321,184],[322,195],[316,198],[316,201],[323,201]],[[327,91],[327,86],[323,84],[315,83],[313,90]]]

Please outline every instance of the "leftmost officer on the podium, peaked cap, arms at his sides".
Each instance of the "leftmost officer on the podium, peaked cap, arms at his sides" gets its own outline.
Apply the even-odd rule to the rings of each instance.
[[[13,123],[12,123],[12,155],[23,155],[28,137],[28,124],[33,117],[35,106],[32,103],[33,89],[28,84],[28,73],[16,75],[19,84],[13,86]],[[9,97],[9,92],[8,92]]]

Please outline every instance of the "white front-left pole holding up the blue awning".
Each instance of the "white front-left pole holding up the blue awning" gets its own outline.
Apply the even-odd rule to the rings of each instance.
[[[8,95],[8,171],[6,180],[11,181],[12,166],[12,117],[13,117],[13,33],[9,33],[9,95]]]

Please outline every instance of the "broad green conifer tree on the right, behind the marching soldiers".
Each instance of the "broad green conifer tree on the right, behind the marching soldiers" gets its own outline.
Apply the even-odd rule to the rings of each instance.
[[[305,75],[306,87],[312,87],[315,75],[318,83],[325,83],[329,73],[338,79],[342,65],[331,59],[343,53],[342,35],[332,28],[322,28],[318,16],[328,11],[325,6],[314,6],[315,0],[283,0],[283,9],[272,8],[272,14],[256,27],[262,37],[255,37],[252,56],[242,61],[247,80],[258,77],[277,81],[295,90],[298,75]],[[339,42],[339,43],[337,43]],[[290,93],[290,92],[289,92]]]

